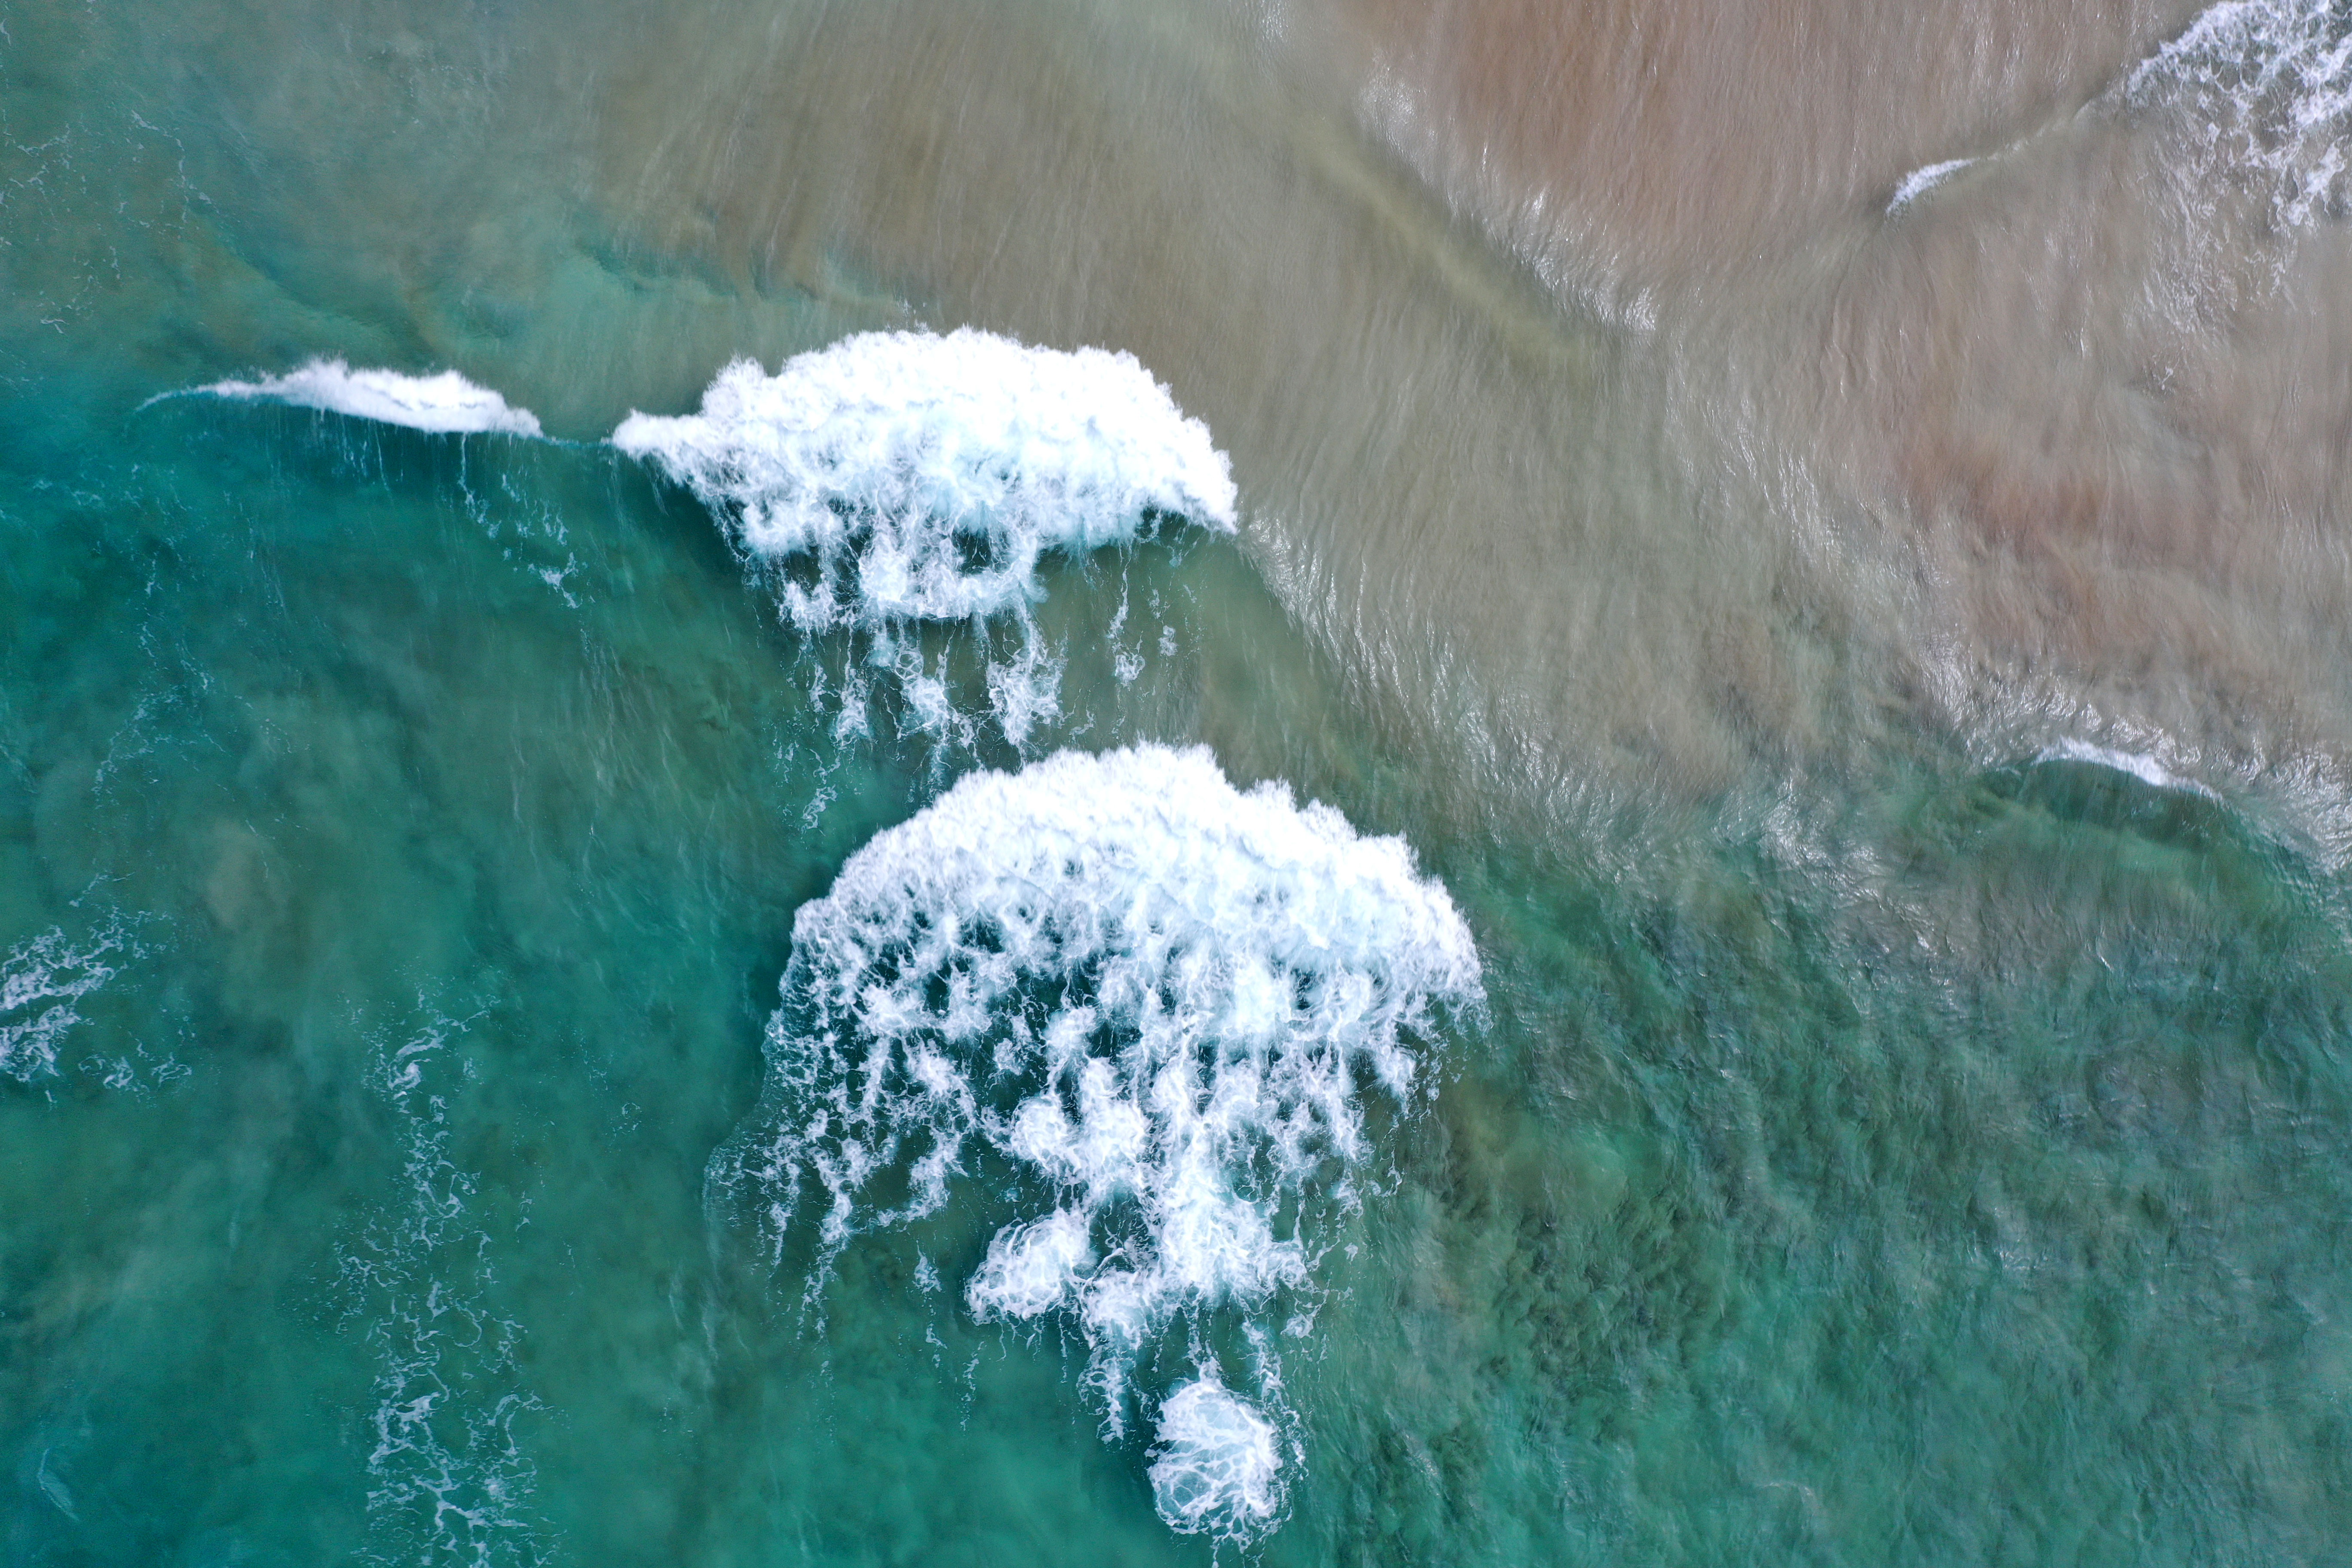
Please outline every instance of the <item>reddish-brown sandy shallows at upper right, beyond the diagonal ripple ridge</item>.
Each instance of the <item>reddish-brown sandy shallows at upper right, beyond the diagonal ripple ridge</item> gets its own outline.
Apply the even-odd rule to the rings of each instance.
[[[1367,120],[1456,209],[1656,322],[1860,515],[1839,548],[1907,578],[1896,684],[1943,724],[2338,792],[2352,360],[2343,235],[2312,221],[2343,129],[2317,7],[2216,7],[2244,16],[2178,68],[2152,56],[2199,7],[1338,9]]]

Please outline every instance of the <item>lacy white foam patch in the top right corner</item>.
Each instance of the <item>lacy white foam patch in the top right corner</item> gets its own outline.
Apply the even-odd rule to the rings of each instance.
[[[2343,207],[2352,136],[2352,26],[2336,0],[2223,0],[2122,87],[2178,106],[2199,146],[2267,181],[2281,228]]]

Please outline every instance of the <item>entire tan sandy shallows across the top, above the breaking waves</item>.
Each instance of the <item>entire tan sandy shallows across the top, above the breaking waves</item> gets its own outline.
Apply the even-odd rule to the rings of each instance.
[[[550,428],[868,324],[1129,348],[1291,611],[1522,795],[2352,757],[2352,249],[2263,162],[2293,94],[2126,89],[2187,5],[435,14],[191,54],[289,226]],[[273,129],[336,94],[445,165]]]

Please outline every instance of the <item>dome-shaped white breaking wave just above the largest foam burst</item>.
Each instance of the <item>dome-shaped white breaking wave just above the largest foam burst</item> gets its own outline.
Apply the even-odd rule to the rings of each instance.
[[[1230,534],[1209,428],[1134,355],[960,329],[868,331],[774,376],[736,360],[701,414],[612,433],[715,510],[783,581],[793,625],[887,630],[1025,604],[1047,550],[1134,541],[1155,512]]]

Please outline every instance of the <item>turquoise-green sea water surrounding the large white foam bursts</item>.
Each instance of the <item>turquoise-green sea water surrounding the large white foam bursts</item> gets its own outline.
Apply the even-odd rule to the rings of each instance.
[[[148,402],[449,355],[275,195],[172,216],[202,155],[158,146],[233,127],[92,129],[108,59],[169,61],[7,24],[7,1561],[2345,1559],[2347,886],[2270,804],[1926,726],[1623,832],[1465,804],[1265,552],[1188,527],[1044,559],[1021,748],[887,682],[844,733],[858,646],[609,447]],[[894,324],[642,287],[579,364],[691,317],[668,411]],[[560,334],[517,331],[466,369],[529,400]],[[910,637],[983,712],[1014,632]],[[858,1237],[816,1312],[807,1227],[706,1190],[795,910],[976,769],[1138,741],[1402,835],[1484,973],[1414,1037],[1435,1098],[1359,1095],[1242,1547],[1162,1523],[1068,1314],[967,1309],[1011,1175]]]

